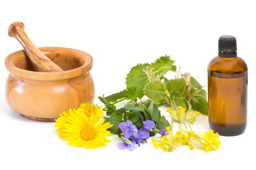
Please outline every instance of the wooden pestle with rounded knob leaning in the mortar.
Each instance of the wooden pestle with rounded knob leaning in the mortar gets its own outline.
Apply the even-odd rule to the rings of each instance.
[[[27,56],[32,63],[32,66],[37,72],[58,72],[63,71],[58,65],[52,60],[46,57],[35,45],[31,42],[29,37],[24,31],[24,24],[17,21],[9,26],[8,34],[10,37],[15,37],[20,45],[23,47]]]

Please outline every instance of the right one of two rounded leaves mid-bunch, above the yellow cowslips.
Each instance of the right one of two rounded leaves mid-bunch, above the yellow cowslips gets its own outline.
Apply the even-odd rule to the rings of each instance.
[[[173,99],[182,98],[182,93],[186,89],[186,80],[184,78],[170,79],[166,84],[166,89]]]

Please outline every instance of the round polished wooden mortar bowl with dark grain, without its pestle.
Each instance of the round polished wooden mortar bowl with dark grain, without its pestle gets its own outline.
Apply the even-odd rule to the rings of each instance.
[[[93,102],[95,88],[90,70],[93,58],[86,52],[61,47],[38,48],[60,66],[61,72],[35,72],[25,51],[5,59],[10,72],[6,80],[6,101],[21,116],[41,122],[55,122],[62,111]]]

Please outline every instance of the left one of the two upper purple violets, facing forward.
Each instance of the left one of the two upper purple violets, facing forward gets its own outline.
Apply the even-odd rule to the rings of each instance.
[[[138,134],[139,130],[135,125],[132,124],[130,120],[127,120],[127,122],[119,123],[119,127],[122,130],[122,132],[124,132],[126,139],[130,138],[132,135],[135,138],[139,138],[139,134]]]

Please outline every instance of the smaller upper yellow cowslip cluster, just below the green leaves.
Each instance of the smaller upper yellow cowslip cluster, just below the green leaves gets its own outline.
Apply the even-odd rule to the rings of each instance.
[[[177,108],[179,109],[179,111],[172,111],[171,108],[169,108],[167,109],[167,112],[169,112],[174,119],[180,122],[181,120],[184,119],[186,109],[183,108],[182,106],[178,106]],[[198,111],[192,112],[190,110],[188,113],[186,113],[186,120],[193,123],[195,122],[195,118],[199,115],[200,115],[200,112]]]

